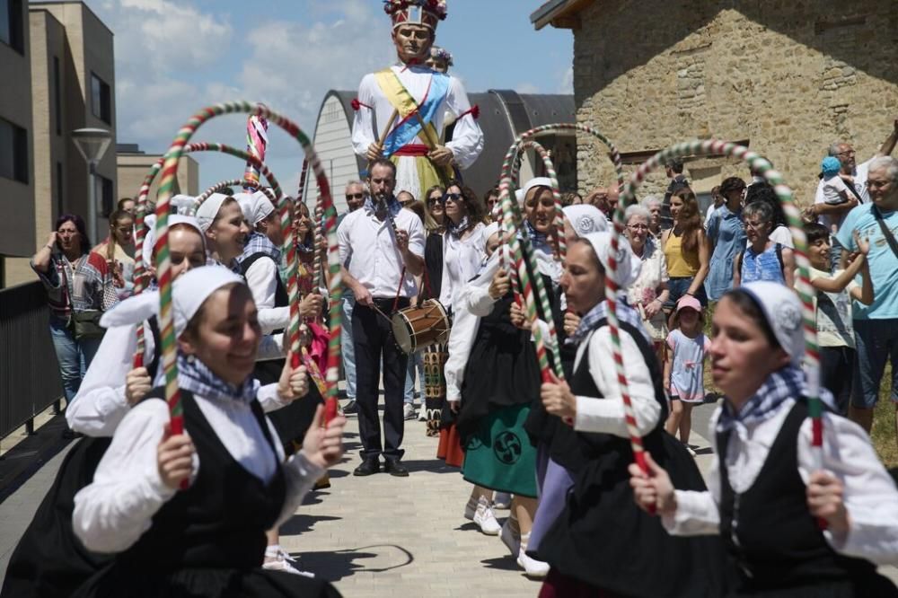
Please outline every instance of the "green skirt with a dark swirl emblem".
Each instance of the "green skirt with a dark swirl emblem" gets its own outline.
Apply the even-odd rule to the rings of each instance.
[[[471,484],[536,497],[536,448],[524,431],[529,405],[491,408],[465,446],[462,475]]]

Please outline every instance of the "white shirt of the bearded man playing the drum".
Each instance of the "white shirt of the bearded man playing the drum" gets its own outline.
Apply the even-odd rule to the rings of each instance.
[[[414,212],[400,210],[393,218],[396,227],[409,233],[409,251],[424,257],[424,224]],[[392,299],[402,277],[402,254],[396,246],[390,219],[381,222],[374,213],[360,208],[346,216],[337,231],[340,263],[347,263],[348,271],[359,284],[365,286],[375,299]],[[418,295],[415,278],[408,271],[402,280],[401,297]]]

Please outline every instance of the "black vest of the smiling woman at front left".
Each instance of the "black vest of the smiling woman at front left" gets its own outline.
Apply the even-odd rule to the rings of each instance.
[[[116,565],[145,572],[260,567],[267,543],[265,531],[284,505],[284,473],[278,467],[266,486],[245,470],[227,452],[193,395],[180,392],[184,428],[199,456],[197,479],[159,509],[150,529],[119,554]],[[145,400],[163,400],[163,389],[154,389]],[[268,448],[277,455],[259,402],[253,400],[251,409]]]

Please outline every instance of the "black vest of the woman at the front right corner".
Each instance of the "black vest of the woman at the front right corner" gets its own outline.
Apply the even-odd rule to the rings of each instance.
[[[807,509],[798,473],[798,432],[806,400],[789,411],[752,487],[736,494],[726,471],[729,432],[718,433],[720,534],[744,589],[786,588],[874,576],[866,560],[836,553]],[[775,455],[775,458],[770,458]]]

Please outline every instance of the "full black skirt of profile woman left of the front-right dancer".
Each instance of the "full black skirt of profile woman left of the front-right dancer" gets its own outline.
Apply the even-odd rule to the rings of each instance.
[[[612,595],[725,595],[725,549],[719,537],[671,536],[659,517],[639,509],[629,487],[629,440],[617,440],[604,442],[601,453],[591,454],[574,472],[565,509],[536,556],[562,576]],[[674,487],[705,489],[695,461],[673,436],[656,430],[644,443]]]

